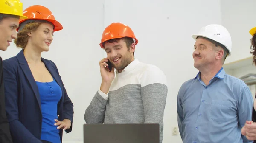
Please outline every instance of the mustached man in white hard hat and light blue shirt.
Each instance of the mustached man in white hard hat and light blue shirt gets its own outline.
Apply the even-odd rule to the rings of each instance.
[[[241,135],[251,119],[253,98],[240,79],[227,75],[223,64],[231,55],[230,33],[221,25],[207,25],[192,36],[195,78],[182,84],[177,113],[183,143],[252,143]]]

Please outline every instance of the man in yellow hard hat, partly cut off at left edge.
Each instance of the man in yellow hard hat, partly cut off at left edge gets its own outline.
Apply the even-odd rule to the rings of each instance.
[[[0,0],[0,50],[5,51],[17,38],[16,28],[20,18],[24,17],[20,0]],[[0,57],[0,143],[12,143],[9,122],[6,118],[5,95],[3,85],[3,65]]]

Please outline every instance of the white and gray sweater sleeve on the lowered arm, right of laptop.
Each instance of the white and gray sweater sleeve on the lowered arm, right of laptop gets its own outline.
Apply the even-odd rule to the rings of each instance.
[[[166,76],[158,67],[148,67],[142,78],[141,96],[143,100],[145,123],[158,123],[160,143],[163,140],[163,113],[166,105]]]

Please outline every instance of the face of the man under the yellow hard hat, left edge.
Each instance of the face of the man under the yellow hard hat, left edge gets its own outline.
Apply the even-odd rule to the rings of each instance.
[[[0,20],[0,50],[7,50],[12,39],[17,38],[16,29],[19,26],[19,19],[13,17],[4,17]]]

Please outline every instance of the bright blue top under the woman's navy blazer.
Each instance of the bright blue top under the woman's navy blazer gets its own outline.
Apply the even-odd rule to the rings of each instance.
[[[53,79],[52,82],[38,82],[38,90],[41,98],[41,112],[43,115],[41,140],[47,140],[52,143],[61,143],[58,126],[54,119],[58,119],[57,106],[62,92],[61,87]]]

